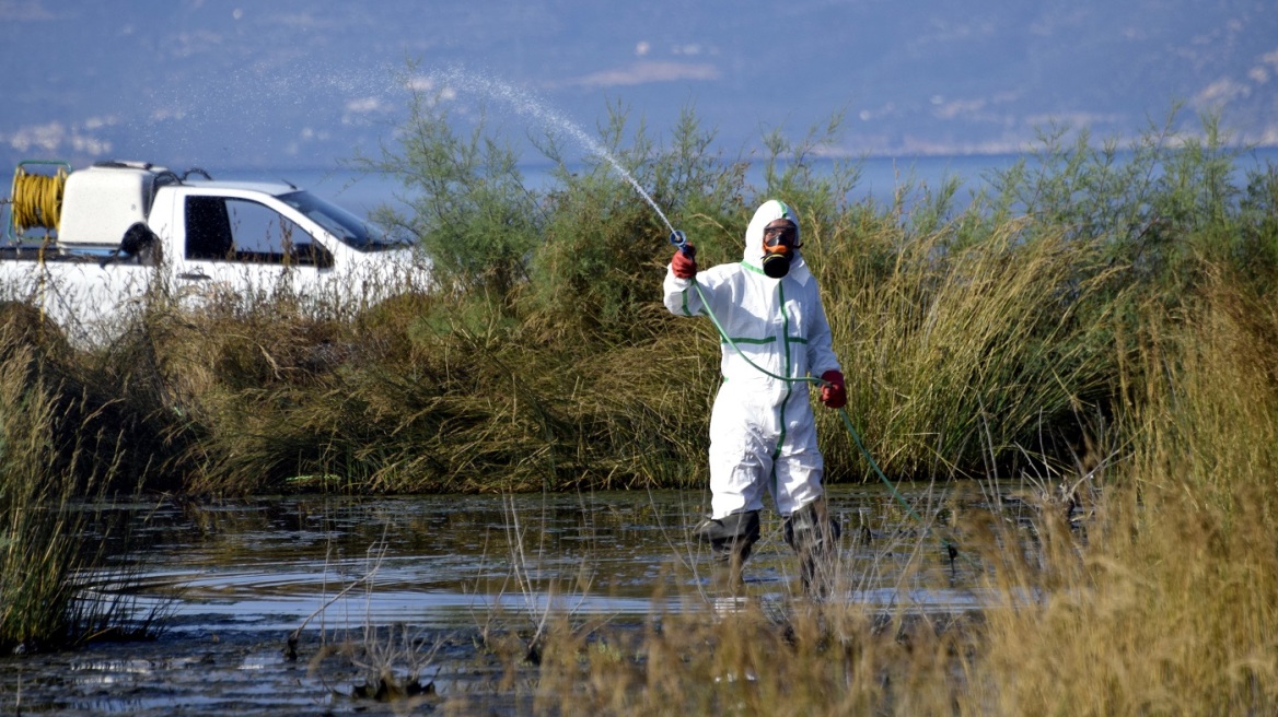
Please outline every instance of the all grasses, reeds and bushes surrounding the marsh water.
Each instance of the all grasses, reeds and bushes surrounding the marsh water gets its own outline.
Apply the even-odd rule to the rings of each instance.
[[[704,481],[718,338],[661,306],[671,248],[656,213],[602,161],[530,193],[483,122],[458,133],[428,96],[410,110],[396,144],[351,166],[403,180],[409,212],[376,218],[431,256],[431,290],[198,315],[157,296],[95,351],[69,348],[31,306],[5,306],[0,647],[92,632],[10,623],[43,600],[65,616],[65,575],[92,565],[54,547],[78,529],[49,523],[70,514],[65,496]],[[601,144],[704,265],[739,258],[760,200],[796,208],[847,412],[887,476],[1038,486],[1022,496],[1029,527],[935,514],[979,563],[967,587],[988,609],[953,625],[809,606],[783,629],[749,610],[666,615],[620,637],[552,617],[537,646],[510,635],[506,651],[528,670],[535,647],[533,706],[1272,713],[1278,167],[1236,185],[1215,120],[1189,137],[1169,119],[1130,147],[1047,130],[966,204],[957,181],[849,202],[855,162],[812,171],[838,124],[799,142],[768,135],[762,188],[745,184],[745,159],[709,152],[713,134],[690,112],[659,142],[615,108]],[[553,138],[539,148],[562,156]],[[818,415],[827,480],[875,480],[837,417]],[[1019,531],[1031,550],[1007,549]],[[56,589],[12,578],[36,569],[35,545],[63,566],[40,568]]]

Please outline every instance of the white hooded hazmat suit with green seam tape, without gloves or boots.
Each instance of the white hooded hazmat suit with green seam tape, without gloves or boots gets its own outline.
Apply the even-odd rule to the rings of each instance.
[[[741,262],[698,272],[700,292],[667,268],[665,302],[680,316],[703,315],[708,307],[737,348],[772,374],[820,376],[840,366],[815,277],[797,253],[782,278],[763,273],[763,231],[781,218],[797,228],[785,203],[773,199],[759,207],[745,231]],[[764,491],[789,518],[822,495],[809,384],[760,373],[726,342],[722,353],[723,383],[711,415],[711,518],[757,513]]]

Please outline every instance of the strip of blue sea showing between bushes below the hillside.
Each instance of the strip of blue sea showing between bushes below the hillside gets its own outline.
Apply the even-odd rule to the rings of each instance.
[[[1021,154],[964,154],[933,157],[870,157],[860,159],[860,177],[852,191],[851,200],[873,198],[878,203],[892,202],[897,188],[910,184],[930,189],[941,186],[947,179],[957,179],[960,189],[956,202],[960,205],[983,189],[993,172],[1011,167]],[[1033,158],[1030,158],[1033,163]],[[822,161],[827,166],[832,161]],[[1278,148],[1254,149],[1243,153],[1237,163],[1236,186],[1246,185],[1249,170],[1263,168],[1265,162],[1278,166]],[[385,175],[366,175],[350,170],[280,168],[280,170],[229,170],[210,168],[216,179],[244,180],[288,180],[294,185],[339,204],[348,211],[366,217],[374,207],[390,204],[403,208],[397,196],[405,194],[397,180]],[[755,166],[746,180],[754,186],[762,186],[762,167]],[[533,189],[547,188],[552,179],[544,165],[521,167],[525,184]]]

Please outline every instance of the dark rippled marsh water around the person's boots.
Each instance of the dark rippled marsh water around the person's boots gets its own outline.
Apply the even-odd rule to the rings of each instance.
[[[944,492],[901,491],[924,514]],[[440,699],[482,694],[500,677],[477,648],[486,629],[519,629],[548,610],[643,625],[722,609],[709,555],[689,541],[707,505],[699,491],[115,505],[134,547],[118,555],[119,570],[86,575],[82,600],[124,601],[139,620],[158,614],[162,630],[0,657],[0,712],[395,713],[360,697],[360,670],[317,658],[321,646],[394,625],[435,651],[419,684],[433,683]],[[980,605],[964,587],[962,561],[947,560],[886,489],[836,486],[829,505],[850,575],[835,600],[919,611]],[[780,521],[766,513],[748,593],[781,603],[797,591],[795,570]],[[484,711],[520,709],[496,700]]]

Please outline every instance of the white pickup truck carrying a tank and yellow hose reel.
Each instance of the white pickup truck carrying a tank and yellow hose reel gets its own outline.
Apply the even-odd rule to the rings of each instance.
[[[38,306],[79,344],[116,336],[123,314],[156,287],[188,307],[285,290],[353,306],[428,281],[410,245],[290,184],[215,181],[203,170],[178,175],[139,162],[68,170],[19,165],[0,300]]]

